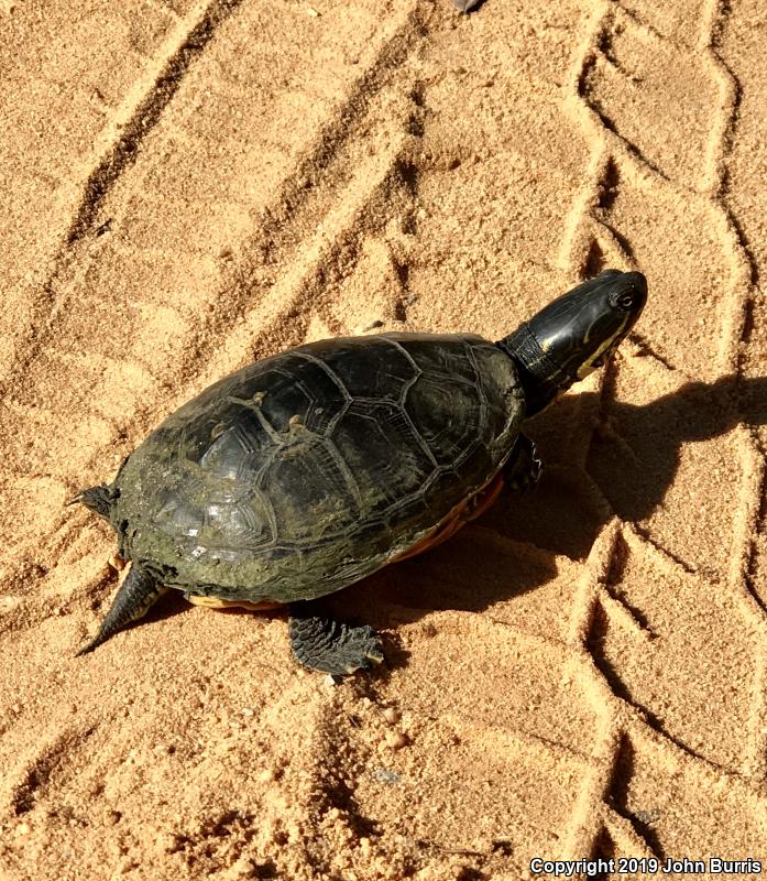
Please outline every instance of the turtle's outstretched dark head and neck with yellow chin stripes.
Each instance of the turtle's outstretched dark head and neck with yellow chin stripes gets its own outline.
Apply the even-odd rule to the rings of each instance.
[[[602,367],[634,327],[647,300],[640,272],[609,269],[549,303],[496,345],[514,359],[527,413]]]

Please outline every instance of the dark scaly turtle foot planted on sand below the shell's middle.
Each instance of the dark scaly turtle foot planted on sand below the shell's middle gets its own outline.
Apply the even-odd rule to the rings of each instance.
[[[369,626],[350,627],[319,613],[313,601],[291,603],[291,649],[305,667],[346,676],[383,661],[381,639]]]

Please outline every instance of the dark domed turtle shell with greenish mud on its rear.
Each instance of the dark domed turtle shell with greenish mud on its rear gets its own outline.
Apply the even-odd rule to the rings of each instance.
[[[165,585],[310,599],[437,529],[497,472],[523,416],[513,361],[481,337],[313,342],[168,416],[123,463],[110,519]]]

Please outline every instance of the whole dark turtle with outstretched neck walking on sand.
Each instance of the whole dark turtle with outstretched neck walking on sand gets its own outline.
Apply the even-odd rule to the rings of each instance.
[[[101,645],[165,590],[288,607],[303,665],[343,676],[383,660],[368,624],[321,597],[435,547],[504,486],[540,474],[523,424],[604,365],[639,317],[639,272],[605,270],[498,341],[381,333],[287,349],[180,406],[80,502],[114,529],[128,574]]]

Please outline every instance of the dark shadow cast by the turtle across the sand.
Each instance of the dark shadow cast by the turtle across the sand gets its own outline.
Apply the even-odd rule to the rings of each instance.
[[[584,420],[590,413],[595,425]],[[555,577],[557,556],[584,558],[613,514],[626,521],[649,516],[673,482],[684,444],[717,437],[738,423],[767,424],[767,378],[688,382],[639,406],[600,401],[593,393],[567,395],[525,429],[544,460],[534,492],[502,493],[446,544],[329,600],[339,614],[381,629],[429,611],[479,612],[533,590]],[[576,436],[573,426],[580,426]],[[588,447],[585,472],[568,459],[580,440]],[[405,659],[395,645],[390,666]]]

